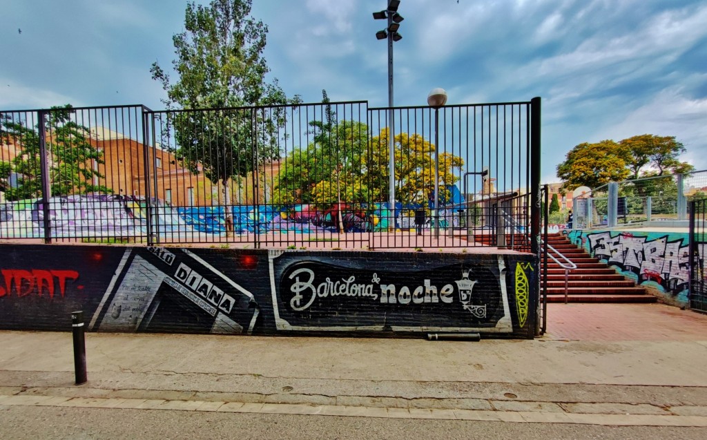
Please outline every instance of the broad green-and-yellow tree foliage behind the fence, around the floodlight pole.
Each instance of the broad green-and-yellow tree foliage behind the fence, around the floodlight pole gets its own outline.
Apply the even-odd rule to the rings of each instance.
[[[370,141],[370,152],[367,152],[368,129],[361,122],[340,121],[321,133],[322,137],[315,137],[307,148],[288,154],[276,183],[276,203],[333,204],[339,195],[346,202],[386,199],[387,129]],[[434,145],[419,134],[407,133],[398,134],[394,144],[397,199],[402,204],[421,203],[433,194]],[[458,180],[454,170],[463,164],[458,156],[440,154],[443,203],[450,197],[443,190],[444,185]]]

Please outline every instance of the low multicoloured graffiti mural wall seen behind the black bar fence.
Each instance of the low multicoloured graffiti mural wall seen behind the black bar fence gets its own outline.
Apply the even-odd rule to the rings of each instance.
[[[458,190],[457,190],[458,192]],[[460,199],[462,200],[462,199]],[[209,239],[233,233],[323,231],[387,231],[389,222],[396,227],[414,228],[409,214],[418,205],[395,209],[387,203],[333,204],[317,208],[309,204],[281,207],[237,205],[225,207],[173,207],[160,199],[151,199],[151,233],[174,240]],[[45,222],[40,199],[0,204],[0,238],[44,238],[45,223],[53,238],[134,238],[148,232],[148,202],[144,197],[124,195],[68,195],[50,197]],[[451,209],[440,209],[442,226],[459,226]],[[232,221],[232,223],[228,223]],[[339,225],[339,222],[341,225]],[[426,219],[424,228],[431,228]]]

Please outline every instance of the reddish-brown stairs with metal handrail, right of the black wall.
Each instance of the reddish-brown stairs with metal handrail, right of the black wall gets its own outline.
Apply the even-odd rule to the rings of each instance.
[[[567,302],[653,303],[655,296],[618,274],[612,267],[578,248],[561,233],[549,234],[548,243],[571,260],[577,269],[568,274]],[[542,261],[540,262],[542,277]],[[541,279],[542,287],[542,279]],[[547,301],[565,301],[565,270],[548,258]]]

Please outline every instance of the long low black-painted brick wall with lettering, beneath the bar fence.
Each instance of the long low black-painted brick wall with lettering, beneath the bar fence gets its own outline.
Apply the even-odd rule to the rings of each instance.
[[[0,328],[532,337],[532,255],[2,245]]]

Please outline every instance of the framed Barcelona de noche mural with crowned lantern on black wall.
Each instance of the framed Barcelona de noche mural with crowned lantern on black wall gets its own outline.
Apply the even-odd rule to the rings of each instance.
[[[503,257],[496,265],[440,259],[406,271],[375,260],[269,255],[279,330],[513,331]]]

